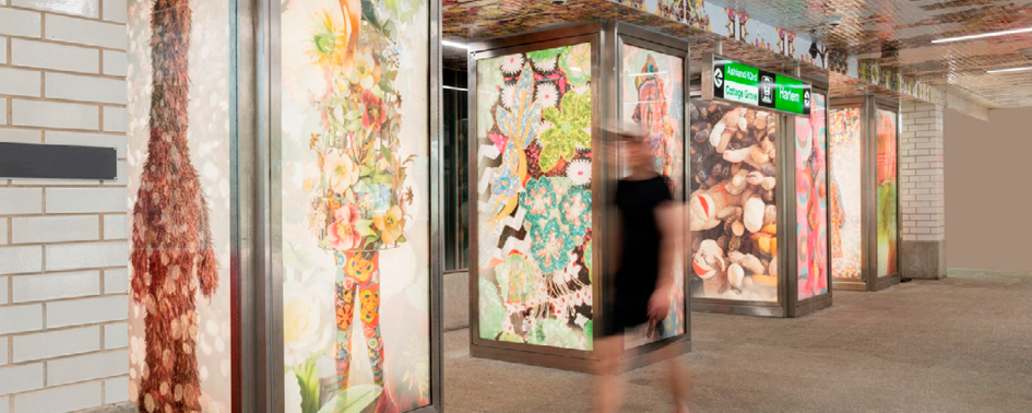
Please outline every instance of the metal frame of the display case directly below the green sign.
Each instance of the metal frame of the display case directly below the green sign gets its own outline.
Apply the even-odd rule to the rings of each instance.
[[[729,56],[734,58],[733,56]],[[712,79],[712,67],[702,68],[702,76],[699,83],[692,84],[691,98],[702,98],[702,90],[705,85],[705,79]],[[797,76],[798,78],[798,76]],[[805,79],[812,84],[812,93],[822,94],[828,97],[828,84],[823,81]],[[712,85],[710,86],[712,87]],[[709,101],[705,101],[709,102]],[[727,102],[732,105],[749,106]],[[826,101],[827,109],[825,111],[825,122],[828,125],[828,114],[831,109],[831,98]],[[760,110],[766,108],[757,107]],[[837,286],[833,286],[831,279],[831,249],[828,248],[828,293],[819,296],[800,300],[798,296],[798,252],[796,232],[796,201],[795,201],[795,115],[788,115],[775,110],[768,110],[774,114],[778,119],[778,163],[774,165],[778,169],[778,186],[775,204],[778,206],[778,239],[779,239],[779,259],[778,259],[778,300],[776,302],[754,302],[754,300],[732,300],[723,298],[693,298],[691,309],[700,312],[734,314],[744,316],[759,317],[802,317],[808,314],[831,307],[832,294]],[[825,167],[829,168],[830,157],[826,156]],[[690,170],[690,165],[688,168]],[[830,169],[828,169],[830,170]],[[830,174],[826,176],[826,185],[830,185]],[[830,226],[830,208],[829,208]],[[829,238],[830,241],[830,238]]]

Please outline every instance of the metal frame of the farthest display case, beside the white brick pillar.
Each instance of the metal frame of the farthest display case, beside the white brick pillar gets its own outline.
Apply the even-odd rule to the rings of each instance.
[[[861,278],[862,281],[835,281],[832,278],[834,288],[843,291],[879,291],[888,288],[900,283],[900,262],[901,249],[897,248],[897,272],[887,276],[878,276],[878,222],[877,222],[877,182],[874,176],[878,167],[878,140],[876,137],[877,125],[875,119],[875,109],[889,110],[897,115],[897,245],[902,245],[902,210],[900,209],[900,137],[902,122],[899,121],[899,102],[878,97],[874,95],[837,97],[829,101],[829,111],[841,108],[861,109],[861,235],[864,237],[861,245]],[[829,128],[830,128],[829,123]],[[830,163],[829,175],[834,165]]]

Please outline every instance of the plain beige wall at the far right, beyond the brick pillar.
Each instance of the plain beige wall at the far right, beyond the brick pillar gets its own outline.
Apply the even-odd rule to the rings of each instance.
[[[1032,108],[945,111],[951,268],[1032,271]]]

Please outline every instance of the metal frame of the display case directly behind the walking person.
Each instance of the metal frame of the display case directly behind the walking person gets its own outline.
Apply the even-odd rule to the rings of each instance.
[[[467,73],[470,80],[466,83],[471,90],[470,104],[471,111],[477,109],[477,93],[473,92],[477,87],[478,60],[518,54],[545,48],[570,46],[582,43],[591,44],[592,52],[592,82],[591,93],[596,96],[592,99],[592,149],[593,155],[596,150],[604,150],[607,142],[613,139],[602,127],[603,119],[616,119],[619,115],[619,105],[617,105],[619,92],[618,68],[621,54],[618,46],[621,42],[629,44],[660,49],[661,51],[684,57],[684,81],[688,84],[688,45],[687,42],[664,36],[641,27],[631,26],[624,23],[612,21],[596,21],[590,23],[574,24],[542,32],[533,32],[522,35],[515,35],[507,38],[486,40],[470,45],[470,59]],[[685,92],[687,96],[687,87]],[[687,107],[687,102],[686,106]],[[478,138],[474,137],[477,130],[477,117],[468,117],[470,134],[470,199],[475,200],[478,197],[477,188],[477,160],[478,160]],[[686,110],[686,133],[687,133],[687,110]],[[687,148],[687,145],[686,145]],[[606,162],[600,162],[593,157],[592,176],[603,177],[601,181],[605,184],[595,184],[592,186],[592,205],[608,205],[613,191],[615,190],[616,170],[608,167]],[[687,153],[686,153],[687,172]],[[600,182],[600,179],[593,179]],[[513,363],[521,363],[534,366],[553,367],[576,371],[590,371],[598,362],[593,351],[558,349],[543,345],[532,345],[522,343],[499,342],[494,340],[481,339],[479,337],[479,251],[475,246],[478,245],[477,228],[478,216],[471,211],[470,216],[470,353],[474,357],[500,359]],[[610,243],[606,241],[610,237],[610,231],[615,222],[615,211],[608,206],[593,206],[592,222],[593,239],[601,240],[593,243],[592,267],[595,269],[612,268],[614,253],[608,248]],[[604,223],[597,225],[597,223]],[[606,306],[604,304],[606,285],[610,278],[605,270],[597,271],[597,276],[592,284],[592,320],[596,326],[605,322]],[[686,280],[687,281],[687,280]],[[687,282],[686,282],[687,293]],[[686,303],[689,303],[686,294]],[[651,363],[656,363],[673,356],[680,355],[690,350],[690,311],[685,311],[686,333],[644,344],[637,349],[627,350],[624,353],[625,367],[634,368]],[[593,341],[602,338],[602,330],[594,329]]]

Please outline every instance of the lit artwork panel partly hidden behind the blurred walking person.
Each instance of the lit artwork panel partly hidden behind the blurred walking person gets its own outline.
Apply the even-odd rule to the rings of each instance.
[[[669,179],[671,193],[678,202],[685,199],[685,94],[684,59],[624,45],[622,107],[625,123],[638,123],[650,134],[656,172]],[[677,256],[674,285],[671,287],[671,310],[657,326],[656,339],[685,333],[685,263]],[[628,346],[643,344],[642,334],[628,334]]]

